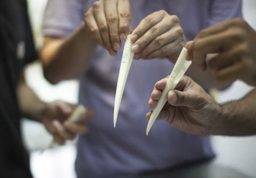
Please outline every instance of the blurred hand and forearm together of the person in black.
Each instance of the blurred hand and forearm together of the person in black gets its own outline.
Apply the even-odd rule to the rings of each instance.
[[[44,123],[46,129],[53,135],[54,140],[63,144],[67,139],[74,139],[77,134],[86,134],[86,121],[94,116],[91,109],[80,116],[76,123],[67,121],[77,105],[62,101],[42,102],[26,85],[23,75],[17,86],[17,98],[22,116]]]

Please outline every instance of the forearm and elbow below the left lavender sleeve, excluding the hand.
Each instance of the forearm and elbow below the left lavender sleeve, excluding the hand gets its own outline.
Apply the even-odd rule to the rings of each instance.
[[[41,51],[46,79],[57,83],[80,77],[90,67],[96,47],[84,23],[65,39],[46,40]]]

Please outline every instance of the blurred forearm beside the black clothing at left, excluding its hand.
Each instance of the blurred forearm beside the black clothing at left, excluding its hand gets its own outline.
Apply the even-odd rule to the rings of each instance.
[[[26,85],[23,73],[17,86],[17,99],[23,117],[42,122],[42,115],[46,103],[42,102],[36,94]]]

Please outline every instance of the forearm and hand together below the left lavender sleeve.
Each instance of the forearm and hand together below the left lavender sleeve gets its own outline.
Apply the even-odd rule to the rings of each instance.
[[[40,54],[46,79],[57,83],[79,78],[90,67],[98,45],[115,56],[130,31],[129,7],[128,0],[96,1],[71,35],[46,36]]]

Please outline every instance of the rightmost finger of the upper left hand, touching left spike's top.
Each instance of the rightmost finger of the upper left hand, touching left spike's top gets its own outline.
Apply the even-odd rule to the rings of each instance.
[[[130,3],[128,0],[118,1],[117,12],[119,19],[119,38],[121,41],[125,41],[130,29]]]

